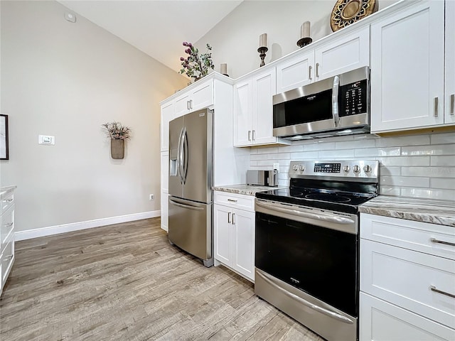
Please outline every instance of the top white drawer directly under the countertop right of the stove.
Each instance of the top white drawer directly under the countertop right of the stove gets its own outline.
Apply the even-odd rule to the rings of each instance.
[[[378,215],[360,215],[360,237],[455,260],[454,227]],[[441,242],[454,245],[443,244]]]

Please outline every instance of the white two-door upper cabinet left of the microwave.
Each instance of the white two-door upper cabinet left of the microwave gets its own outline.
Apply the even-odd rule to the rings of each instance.
[[[276,71],[261,70],[234,86],[234,146],[290,144],[273,136],[272,97],[277,93]]]

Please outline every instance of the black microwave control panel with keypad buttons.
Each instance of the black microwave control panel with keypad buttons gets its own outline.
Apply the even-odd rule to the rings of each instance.
[[[367,80],[359,80],[347,85],[341,85],[338,92],[340,103],[339,115],[340,117],[364,114],[368,110]]]

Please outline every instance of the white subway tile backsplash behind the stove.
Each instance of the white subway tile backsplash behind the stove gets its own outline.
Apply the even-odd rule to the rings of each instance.
[[[372,134],[294,141],[251,148],[252,169],[279,163],[279,185],[289,185],[289,162],[378,160],[380,194],[455,200],[455,133],[379,137]]]

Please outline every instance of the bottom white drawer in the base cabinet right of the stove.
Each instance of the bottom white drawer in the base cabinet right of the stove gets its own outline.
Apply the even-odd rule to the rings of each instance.
[[[359,340],[452,341],[455,330],[360,293]]]

